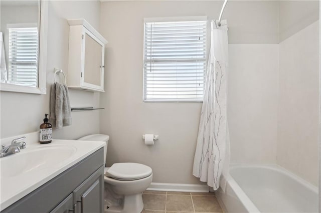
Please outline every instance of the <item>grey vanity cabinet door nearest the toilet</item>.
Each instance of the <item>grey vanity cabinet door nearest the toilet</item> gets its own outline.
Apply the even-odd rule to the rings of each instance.
[[[74,190],[76,213],[104,212],[104,167],[88,177]]]

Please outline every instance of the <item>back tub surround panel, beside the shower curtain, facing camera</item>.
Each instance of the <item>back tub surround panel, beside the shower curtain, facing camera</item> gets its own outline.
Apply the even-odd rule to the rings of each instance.
[[[278,44],[230,44],[232,163],[276,163]]]

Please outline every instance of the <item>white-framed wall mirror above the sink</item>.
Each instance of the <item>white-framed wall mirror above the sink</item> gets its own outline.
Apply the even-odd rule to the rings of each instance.
[[[1,91],[46,93],[46,0],[0,1]]]

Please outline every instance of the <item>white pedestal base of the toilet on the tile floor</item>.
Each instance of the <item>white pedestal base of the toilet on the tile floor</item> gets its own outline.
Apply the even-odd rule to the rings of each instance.
[[[112,205],[105,209],[107,213],[140,213],[144,208],[142,193],[124,195],[120,205]]]

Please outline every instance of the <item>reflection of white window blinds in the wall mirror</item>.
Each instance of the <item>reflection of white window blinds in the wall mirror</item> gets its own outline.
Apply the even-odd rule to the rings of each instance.
[[[37,87],[38,28],[9,28],[10,83]]]

